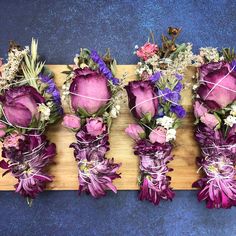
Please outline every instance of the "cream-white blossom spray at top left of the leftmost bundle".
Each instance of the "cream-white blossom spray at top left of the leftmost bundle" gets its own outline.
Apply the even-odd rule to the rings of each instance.
[[[8,53],[8,62],[3,65],[3,70],[1,72],[0,87],[4,88],[7,84],[16,77],[19,70],[19,66],[24,56],[29,53],[29,48],[26,47],[24,50],[19,51],[17,49],[12,49]]]

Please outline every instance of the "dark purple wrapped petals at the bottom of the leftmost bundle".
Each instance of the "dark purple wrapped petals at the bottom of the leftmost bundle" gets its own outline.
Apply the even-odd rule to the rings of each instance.
[[[45,168],[55,155],[56,146],[46,136],[12,133],[3,140],[5,160],[0,162],[0,167],[6,169],[4,174],[11,173],[18,180],[17,193],[33,199],[45,189],[46,183],[52,182]]]

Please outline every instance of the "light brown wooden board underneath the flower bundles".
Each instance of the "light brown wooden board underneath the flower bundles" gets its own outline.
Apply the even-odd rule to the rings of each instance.
[[[61,88],[65,75],[61,71],[66,70],[65,65],[49,65],[54,73],[56,83]],[[127,82],[135,79],[135,65],[119,65],[117,77],[122,77],[127,73]],[[191,81],[193,70],[186,72],[185,81]],[[170,173],[172,177],[171,186],[176,190],[191,190],[192,183],[199,178],[197,166],[195,164],[196,156],[199,154],[197,143],[193,136],[193,115],[191,89],[183,92],[182,104],[187,110],[187,117],[183,120],[182,126],[177,131],[176,147],[173,151],[174,160],[170,167],[174,171]],[[65,105],[65,104],[64,104]],[[66,108],[66,105],[65,105]],[[122,163],[120,172],[122,178],[115,181],[119,190],[136,190],[138,176],[138,157],[133,154],[133,141],[125,133],[124,129],[133,118],[128,110],[127,103],[122,105],[120,116],[114,120],[110,134],[111,150],[108,157],[114,157],[115,161]],[[73,150],[68,146],[75,140],[74,133],[63,128],[60,123],[49,128],[47,135],[52,142],[57,144],[57,156],[55,164],[50,166],[49,172],[54,176],[54,181],[48,184],[50,190],[77,190],[77,164],[74,160]],[[3,173],[0,170],[0,175]],[[10,175],[0,177],[0,190],[13,190],[16,180]]]

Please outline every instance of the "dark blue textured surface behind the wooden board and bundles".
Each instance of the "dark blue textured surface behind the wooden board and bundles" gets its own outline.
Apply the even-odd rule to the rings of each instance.
[[[110,47],[120,64],[136,63],[135,44],[149,30],[183,28],[181,39],[201,46],[236,46],[236,1],[12,1],[0,0],[0,56],[8,41],[39,39],[47,63],[71,63],[80,47]],[[65,147],[66,148],[66,147]],[[129,157],[127,157],[129,158]],[[189,158],[195,158],[189,156]],[[1,180],[0,180],[1,181]],[[154,207],[137,192],[101,200],[75,191],[47,191],[28,208],[14,192],[0,192],[0,235],[236,235],[236,209],[207,210],[195,191]]]

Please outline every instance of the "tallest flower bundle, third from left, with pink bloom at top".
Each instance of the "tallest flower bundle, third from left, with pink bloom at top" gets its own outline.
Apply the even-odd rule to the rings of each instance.
[[[168,163],[173,159],[176,129],[186,113],[180,93],[184,71],[192,60],[191,44],[175,42],[179,33],[180,29],[170,27],[160,47],[154,37],[153,43],[136,46],[135,54],[141,59],[138,80],[126,86],[129,108],[138,123],[125,131],[135,140],[134,153],[140,158],[139,199],[154,204],[174,197]]]

